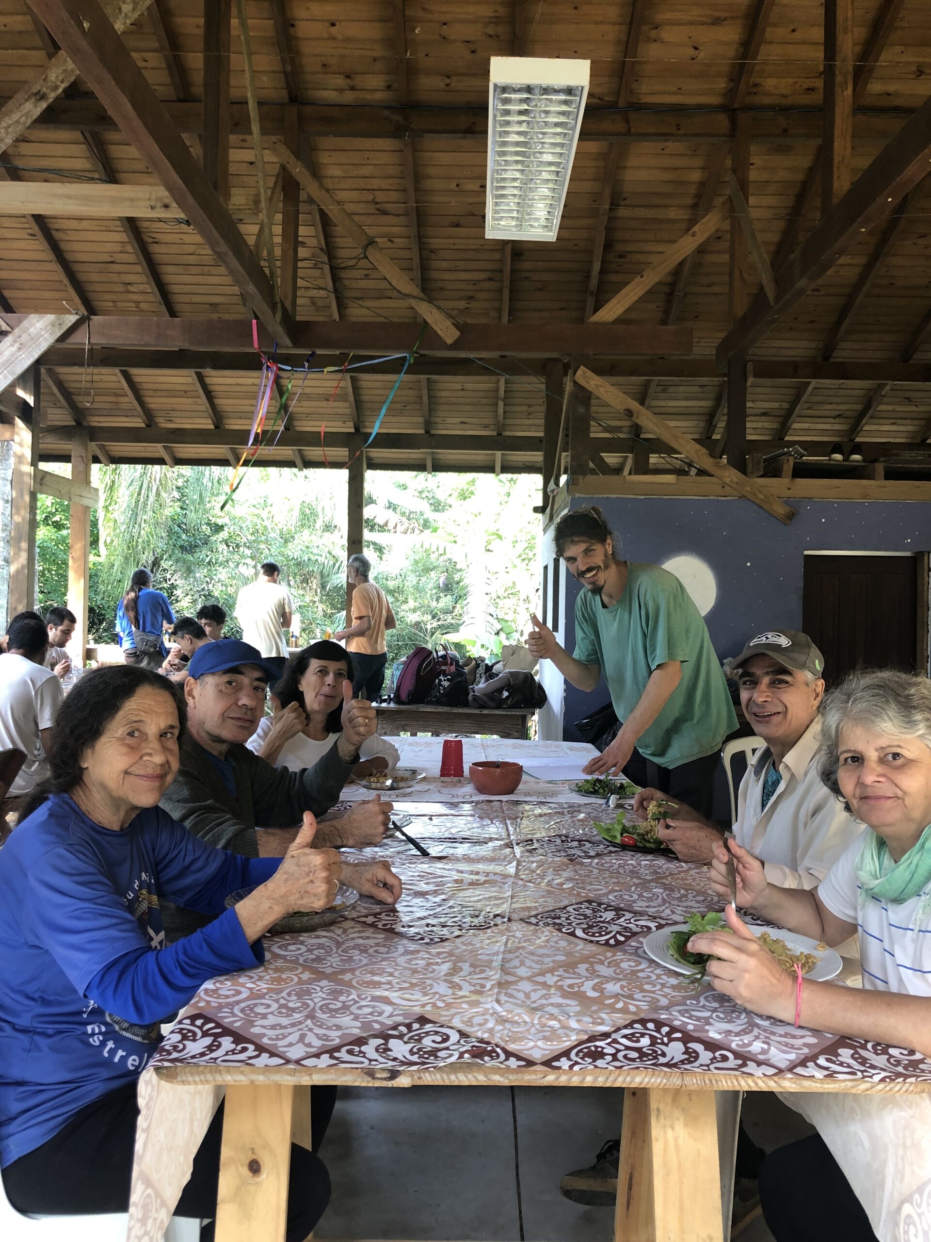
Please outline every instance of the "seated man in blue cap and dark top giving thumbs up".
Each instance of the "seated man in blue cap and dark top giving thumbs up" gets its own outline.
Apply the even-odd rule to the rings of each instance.
[[[187,733],[181,765],[161,800],[168,814],[196,836],[251,858],[284,854],[304,811],[319,816],[339,801],[359,761],[359,748],[376,727],[372,705],[353,699],[346,683],[336,745],[313,768],[298,773],[273,768],[248,750],[246,741],[262,719],[268,684],[277,679],[278,671],[246,642],[221,638],[195,651],[184,683]],[[360,802],[341,818],[320,823],[314,846],[377,845],[390,814],[391,804],[377,796]],[[401,882],[384,862],[344,864],[340,879],[389,904],[401,893]],[[204,923],[190,910],[173,908],[165,915],[173,938]]]

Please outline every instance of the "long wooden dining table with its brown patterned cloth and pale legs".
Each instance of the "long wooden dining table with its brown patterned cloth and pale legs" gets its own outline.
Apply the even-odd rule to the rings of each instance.
[[[720,903],[705,867],[602,842],[600,804],[405,810],[430,857],[364,852],[401,877],[397,907],[267,936],[264,965],[171,1028],[140,1083],[129,1242],[161,1237],[223,1093],[217,1242],[284,1237],[323,1083],[623,1087],[617,1242],[717,1242],[741,1092],[931,1090],[917,1052],[757,1017],[653,961],[650,932]]]

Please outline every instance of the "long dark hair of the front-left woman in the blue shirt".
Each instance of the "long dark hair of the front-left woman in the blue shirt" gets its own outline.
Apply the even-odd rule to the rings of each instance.
[[[103,737],[104,729],[123,704],[142,689],[161,691],[178,708],[179,741],[184,737],[187,713],[184,698],[173,682],[138,664],[110,664],[86,673],[68,692],[58,708],[48,746],[48,777],[29,795],[20,825],[52,794],[70,794],[83,780],[81,760]]]

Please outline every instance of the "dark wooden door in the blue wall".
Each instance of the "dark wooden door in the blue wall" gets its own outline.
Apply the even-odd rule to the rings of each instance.
[[[833,684],[855,668],[919,667],[922,556],[806,556],[802,628]]]

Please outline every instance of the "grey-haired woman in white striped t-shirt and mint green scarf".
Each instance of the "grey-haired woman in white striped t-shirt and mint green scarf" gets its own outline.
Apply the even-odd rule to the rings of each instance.
[[[817,888],[780,888],[735,841],[737,903],[777,927],[838,945],[859,936],[863,990],[787,974],[727,907],[730,935],[708,980],[746,1009],[813,1031],[914,1048],[931,1059],[931,682],[886,669],[853,673],[825,699],[818,769],[866,825]],[[711,881],[727,895],[727,853]],[[897,1052],[902,1059],[914,1053]],[[842,1056],[843,1059],[843,1056]],[[881,1062],[881,1049],[876,1051]],[[925,1074],[927,1064],[916,1069]],[[818,1135],[772,1153],[760,1195],[776,1242],[891,1242],[914,1232],[931,1196],[931,1099],[798,1093],[787,1100]],[[854,1192],[855,1190],[855,1192]],[[931,1225],[927,1221],[926,1223]]]

